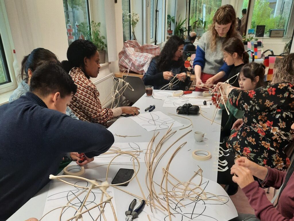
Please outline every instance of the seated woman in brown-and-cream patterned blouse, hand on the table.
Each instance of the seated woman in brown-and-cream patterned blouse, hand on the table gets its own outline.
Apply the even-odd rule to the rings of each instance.
[[[83,121],[107,126],[107,121],[124,114],[139,114],[138,107],[102,108],[99,92],[90,81],[97,77],[100,69],[100,55],[90,41],[76,40],[67,49],[68,61],[62,61],[64,69],[78,86],[69,107]]]

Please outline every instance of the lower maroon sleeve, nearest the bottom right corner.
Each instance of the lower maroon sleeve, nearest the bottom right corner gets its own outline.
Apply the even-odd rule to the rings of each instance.
[[[294,221],[293,218],[288,220],[273,206],[265,195],[265,191],[259,187],[257,181],[254,181],[244,188],[249,200],[250,206],[254,209],[255,216],[261,221],[275,220],[275,221]]]

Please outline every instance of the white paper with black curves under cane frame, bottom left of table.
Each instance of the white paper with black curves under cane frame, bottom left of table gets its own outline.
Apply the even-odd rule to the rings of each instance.
[[[105,179],[103,179],[105,180]],[[82,187],[89,187],[90,184],[87,181],[84,180],[71,180],[70,183],[82,186]],[[108,179],[108,183],[111,183],[111,179]],[[113,204],[114,210],[116,212],[116,206],[115,206],[115,200],[114,200],[114,192],[113,187],[109,187],[107,190],[107,193],[112,196],[111,202]],[[69,184],[66,184],[64,182],[52,182],[49,187],[44,212],[43,215],[45,215],[50,210],[53,210],[58,207],[66,206],[68,203],[71,207],[65,207],[64,212],[61,215],[61,221],[68,220],[69,218],[76,215],[77,210],[80,209],[83,200],[86,197],[88,191],[83,192],[83,189],[80,189],[78,187],[71,186]],[[81,195],[78,195],[80,194]],[[72,198],[77,196],[74,200],[69,202]],[[101,200],[101,190],[99,189],[92,189],[88,199],[82,209],[82,212],[97,205]],[[103,200],[106,200],[106,197],[104,195]],[[103,204],[104,205],[104,204]],[[74,208],[76,209],[74,209]],[[60,209],[56,209],[49,214],[47,214],[42,220],[44,221],[58,221],[59,215],[60,215]],[[88,212],[85,212],[82,214],[83,220],[96,220],[98,215],[100,214],[100,206],[93,208],[92,210],[89,210]],[[113,212],[111,209],[111,206],[107,203],[104,207],[104,215],[106,217],[106,220],[114,220]],[[101,218],[100,218],[101,217]],[[98,220],[104,221],[103,216],[101,215]],[[75,219],[73,219],[75,220]]]

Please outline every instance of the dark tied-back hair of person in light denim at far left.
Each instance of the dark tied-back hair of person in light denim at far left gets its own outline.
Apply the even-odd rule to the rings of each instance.
[[[36,48],[34,49],[31,54],[24,56],[21,61],[21,73],[20,76],[22,80],[28,82],[28,70],[30,69],[32,72],[36,70],[36,68],[46,61],[52,61],[60,64],[59,60],[57,59],[56,55],[51,51],[44,49],[44,48]]]

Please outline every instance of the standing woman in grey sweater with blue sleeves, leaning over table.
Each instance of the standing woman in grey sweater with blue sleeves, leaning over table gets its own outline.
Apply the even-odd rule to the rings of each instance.
[[[197,45],[193,62],[196,79],[192,86],[202,84],[202,82],[216,84],[227,79],[225,75],[230,73],[232,67],[223,61],[222,44],[231,37],[238,37],[242,40],[241,35],[235,31],[235,24],[236,14],[233,6],[224,5],[216,11],[209,31],[202,35]],[[204,90],[195,87],[195,91]]]

